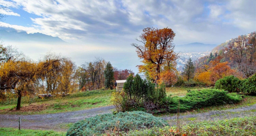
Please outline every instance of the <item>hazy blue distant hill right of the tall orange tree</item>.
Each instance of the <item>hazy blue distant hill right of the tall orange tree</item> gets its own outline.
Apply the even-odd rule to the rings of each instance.
[[[211,51],[217,45],[214,44],[203,44],[203,43],[190,43],[186,45],[176,45],[176,52],[207,52]]]

